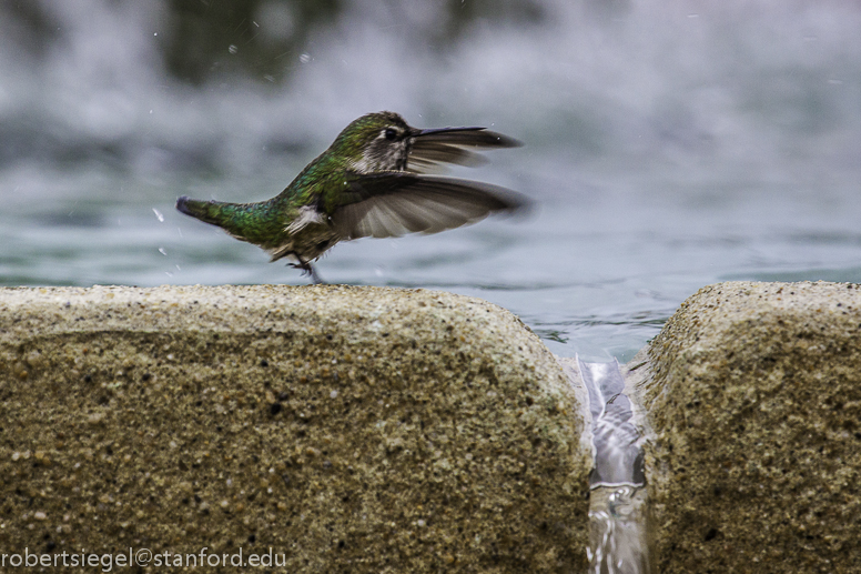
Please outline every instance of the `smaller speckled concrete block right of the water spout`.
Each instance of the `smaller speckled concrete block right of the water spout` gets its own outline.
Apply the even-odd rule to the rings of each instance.
[[[860,289],[711,285],[629,363],[658,572],[861,572]]]

